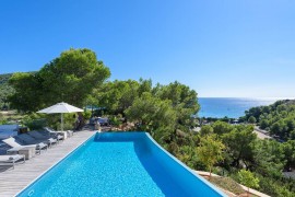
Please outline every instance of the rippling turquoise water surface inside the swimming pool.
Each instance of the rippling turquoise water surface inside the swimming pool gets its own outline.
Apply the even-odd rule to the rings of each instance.
[[[106,139],[92,138],[20,196],[190,196],[145,140]]]

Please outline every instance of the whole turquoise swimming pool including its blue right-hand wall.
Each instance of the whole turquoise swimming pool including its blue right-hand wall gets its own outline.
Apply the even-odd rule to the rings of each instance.
[[[145,132],[96,134],[17,196],[225,196]]]

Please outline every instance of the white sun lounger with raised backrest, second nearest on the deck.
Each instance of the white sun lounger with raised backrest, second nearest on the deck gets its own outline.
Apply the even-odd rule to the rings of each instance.
[[[45,143],[37,143],[37,144],[21,144],[20,142],[17,142],[14,138],[10,137],[8,139],[2,140],[4,143],[9,144],[10,147],[12,147],[12,149],[9,149],[7,152],[8,153],[15,153],[19,152],[21,149],[23,148],[31,148],[34,147],[39,153],[42,149],[47,149],[48,146]]]

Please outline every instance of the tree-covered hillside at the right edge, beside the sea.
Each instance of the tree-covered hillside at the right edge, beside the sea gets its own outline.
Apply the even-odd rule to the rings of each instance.
[[[295,139],[295,101],[278,101],[269,106],[252,107],[246,112],[246,120],[257,123],[281,140]]]

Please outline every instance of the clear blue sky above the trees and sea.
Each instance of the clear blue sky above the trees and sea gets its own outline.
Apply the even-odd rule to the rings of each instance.
[[[292,0],[3,0],[0,26],[0,73],[90,48],[110,80],[177,80],[202,97],[295,97]]]

